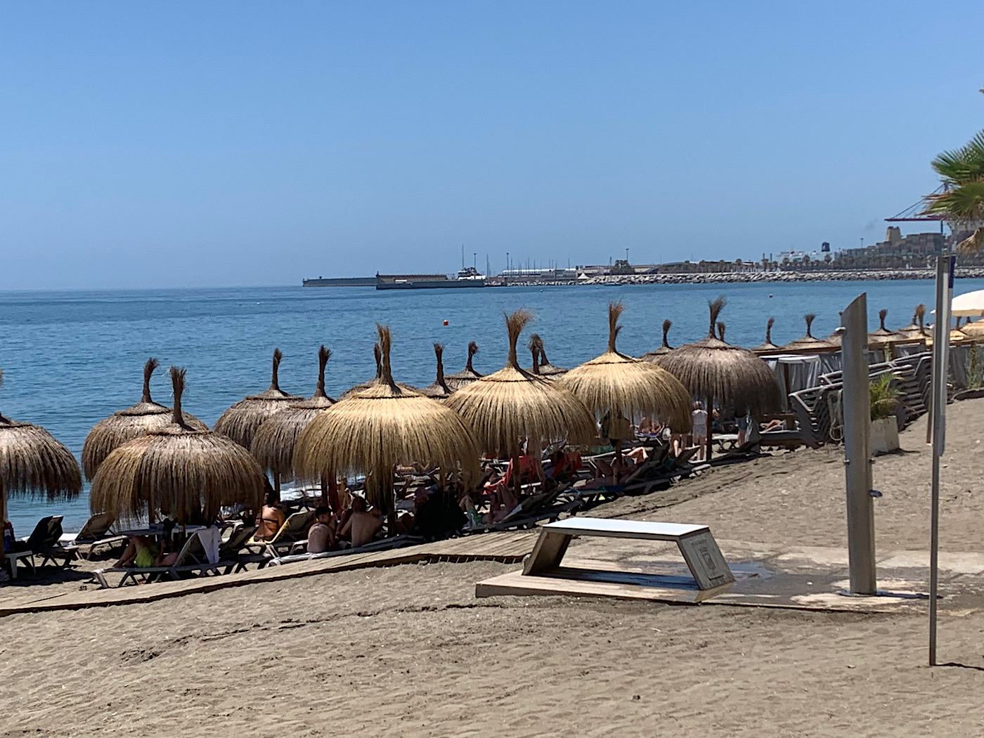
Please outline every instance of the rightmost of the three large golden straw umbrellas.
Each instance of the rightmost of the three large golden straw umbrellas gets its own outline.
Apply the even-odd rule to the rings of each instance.
[[[608,305],[608,349],[585,361],[557,380],[583,401],[596,417],[630,419],[654,415],[676,433],[686,433],[691,425],[690,394],[680,380],[655,364],[619,353],[615,340],[622,329],[619,317],[625,310],[621,302]],[[616,443],[621,452],[621,442]]]

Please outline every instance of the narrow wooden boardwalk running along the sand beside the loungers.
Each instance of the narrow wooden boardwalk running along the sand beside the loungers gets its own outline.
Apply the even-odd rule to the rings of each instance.
[[[530,531],[483,533],[406,546],[391,551],[312,559],[219,577],[198,577],[177,582],[73,591],[40,597],[35,594],[20,601],[0,603],[0,617],[17,613],[79,610],[87,607],[154,602],[185,594],[209,592],[226,586],[277,582],[333,572],[347,572],[353,569],[412,564],[419,561],[498,561],[515,564],[532,551],[535,540],[536,533]]]

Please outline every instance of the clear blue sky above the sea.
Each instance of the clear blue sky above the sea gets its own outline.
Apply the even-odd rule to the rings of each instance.
[[[0,288],[853,247],[984,127],[925,3],[12,3]]]

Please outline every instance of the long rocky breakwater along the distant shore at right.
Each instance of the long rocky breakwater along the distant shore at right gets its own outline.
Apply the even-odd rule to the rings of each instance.
[[[984,278],[984,267],[957,267],[957,278]],[[510,281],[510,287],[559,286],[562,284],[724,284],[742,282],[793,282],[793,281],[882,281],[887,279],[934,279],[936,270],[844,270],[824,272],[734,272],[695,273],[665,275],[608,275],[591,277],[582,281],[530,279]]]

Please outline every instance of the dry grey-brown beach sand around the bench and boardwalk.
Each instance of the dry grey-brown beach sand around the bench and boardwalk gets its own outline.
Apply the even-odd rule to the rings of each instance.
[[[942,540],[980,551],[984,401],[950,409]],[[924,549],[920,422],[876,464],[878,545]],[[715,469],[593,514],[844,545],[838,449]],[[645,547],[645,544],[640,544]],[[603,546],[576,542],[591,555]],[[515,566],[430,564],[0,620],[0,735],[970,736],[984,610],[923,615],[475,599]],[[76,584],[77,586],[78,584]]]

